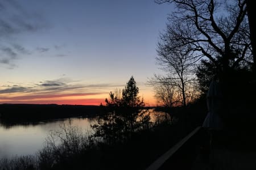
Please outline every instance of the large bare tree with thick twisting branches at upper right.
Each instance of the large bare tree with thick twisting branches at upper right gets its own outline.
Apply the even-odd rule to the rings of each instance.
[[[222,80],[230,69],[251,65],[251,42],[245,0],[156,0],[176,6],[161,36],[166,50],[207,57]],[[217,62],[221,61],[221,62]]]

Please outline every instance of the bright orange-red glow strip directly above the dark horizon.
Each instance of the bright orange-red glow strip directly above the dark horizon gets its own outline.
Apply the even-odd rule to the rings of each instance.
[[[150,91],[144,91],[145,106],[155,106],[154,97]],[[8,95],[0,94],[0,104],[68,104],[68,105],[105,105],[105,99],[109,98],[106,92],[94,93],[71,93],[71,94],[43,94],[43,93],[14,93]]]

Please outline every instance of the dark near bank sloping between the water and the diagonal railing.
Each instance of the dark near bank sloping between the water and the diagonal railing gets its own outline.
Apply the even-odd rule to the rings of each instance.
[[[144,169],[190,129],[163,123],[134,133],[126,143],[106,145],[93,138],[83,138],[79,129],[69,127],[61,135],[64,137],[61,145],[53,146],[48,141],[36,156],[1,160],[1,168],[18,165],[19,169]]]

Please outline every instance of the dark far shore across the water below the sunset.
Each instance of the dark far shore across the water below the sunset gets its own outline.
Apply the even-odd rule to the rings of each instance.
[[[0,104],[0,120],[5,122],[42,121],[54,118],[95,117],[102,108],[97,105]]]

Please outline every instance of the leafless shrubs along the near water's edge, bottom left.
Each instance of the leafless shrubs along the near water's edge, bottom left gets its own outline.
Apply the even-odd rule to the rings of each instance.
[[[55,169],[82,155],[96,144],[89,131],[76,126],[62,125],[60,131],[50,131],[42,150],[35,156],[15,156],[0,159],[0,170]]]

